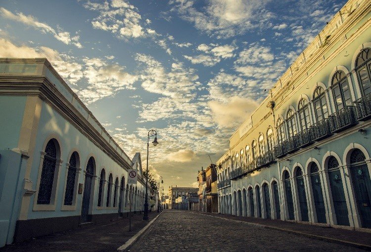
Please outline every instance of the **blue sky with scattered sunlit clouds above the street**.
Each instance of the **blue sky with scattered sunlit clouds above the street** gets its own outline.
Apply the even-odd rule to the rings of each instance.
[[[156,130],[149,170],[166,193],[197,186],[345,2],[0,1],[0,57],[46,57],[143,169]]]

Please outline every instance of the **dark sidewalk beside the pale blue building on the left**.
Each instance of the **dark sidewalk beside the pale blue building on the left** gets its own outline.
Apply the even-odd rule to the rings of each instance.
[[[35,240],[7,245],[0,252],[116,252],[150,220],[157,212],[148,213],[149,220],[143,215],[132,217],[132,231],[129,232],[129,218],[118,218],[105,224],[91,224],[75,230],[42,236]]]

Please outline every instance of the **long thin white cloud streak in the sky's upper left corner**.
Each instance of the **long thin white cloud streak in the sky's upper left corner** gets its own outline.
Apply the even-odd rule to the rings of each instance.
[[[49,25],[39,22],[35,17],[28,15],[26,16],[22,12],[18,12],[16,14],[12,13],[11,11],[0,7],[0,15],[3,18],[7,18],[13,21],[17,21],[20,23],[23,23],[26,26],[33,27],[36,30],[39,30],[40,32],[44,34],[51,34],[59,41],[65,43],[65,44],[74,44],[78,48],[82,48],[81,43],[79,42],[79,36],[74,36],[71,38],[71,35],[69,32],[64,32],[60,27],[57,27],[57,31],[53,28],[51,28]]]

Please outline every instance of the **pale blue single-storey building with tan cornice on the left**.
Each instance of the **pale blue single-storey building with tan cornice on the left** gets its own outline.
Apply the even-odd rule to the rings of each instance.
[[[129,158],[45,58],[0,59],[0,108],[0,247],[143,210],[140,154]]]

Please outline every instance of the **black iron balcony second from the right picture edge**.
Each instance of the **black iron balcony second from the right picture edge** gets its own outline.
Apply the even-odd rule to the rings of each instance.
[[[329,116],[330,132],[336,133],[345,130],[358,123],[356,112],[353,106],[346,106],[343,109]]]

